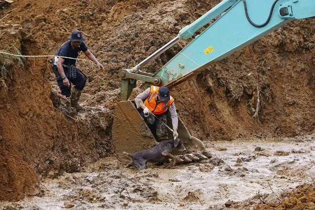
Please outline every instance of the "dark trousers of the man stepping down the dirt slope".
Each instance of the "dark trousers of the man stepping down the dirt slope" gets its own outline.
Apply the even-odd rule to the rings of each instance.
[[[68,68],[66,68],[66,67],[63,67],[63,68],[65,71],[65,74],[67,75]],[[53,65],[52,69],[53,69],[54,74],[56,75],[56,80],[57,80],[57,83],[58,83],[58,86],[61,90],[62,95],[66,96],[66,97],[70,97],[70,95],[71,95],[71,83],[75,85],[74,87],[76,89],[83,90],[85,83],[86,83],[86,76],[80,70],[76,70],[76,78],[75,79],[70,79],[67,77],[70,81],[70,87],[67,87],[64,85],[63,80],[62,80],[61,76],[59,75],[57,66]]]

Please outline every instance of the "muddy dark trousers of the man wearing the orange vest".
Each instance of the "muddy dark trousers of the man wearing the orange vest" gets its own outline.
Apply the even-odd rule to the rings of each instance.
[[[167,127],[162,123],[164,122],[167,124],[167,112],[164,112],[162,114],[156,114],[155,116],[159,118],[160,120],[156,119],[153,124],[150,124],[147,120],[147,117],[144,116],[143,109],[140,108],[140,115],[144,119],[146,125],[150,129],[151,133],[153,134],[155,140],[161,141],[161,140],[168,140],[168,132]],[[162,122],[161,122],[162,121]]]

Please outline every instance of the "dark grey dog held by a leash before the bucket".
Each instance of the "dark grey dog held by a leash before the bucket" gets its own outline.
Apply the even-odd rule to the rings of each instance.
[[[175,157],[171,154],[173,149],[178,149],[178,151],[185,151],[186,148],[180,139],[162,141],[150,149],[145,149],[136,152],[133,155],[123,152],[124,154],[132,158],[132,163],[127,167],[134,165],[137,169],[143,170],[146,168],[146,162],[162,162],[167,158],[172,158],[177,162],[182,162],[180,158]]]

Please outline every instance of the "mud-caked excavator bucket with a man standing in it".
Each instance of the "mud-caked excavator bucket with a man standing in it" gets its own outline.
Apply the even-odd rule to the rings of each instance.
[[[189,134],[179,117],[177,132],[178,138],[184,142],[188,151],[205,151],[203,142]],[[169,137],[173,138],[172,135]],[[133,154],[157,143],[133,101],[122,101],[115,105],[112,138],[116,154]]]

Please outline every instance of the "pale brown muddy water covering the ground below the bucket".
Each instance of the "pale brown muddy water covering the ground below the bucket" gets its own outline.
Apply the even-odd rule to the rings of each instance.
[[[267,203],[275,202],[282,191],[315,177],[312,136],[206,146],[215,157],[170,169],[150,165],[137,172],[106,158],[85,173],[45,179],[40,197],[0,203],[0,209],[220,209],[228,200],[243,202],[258,190],[270,194]],[[216,166],[219,159],[224,162]]]

